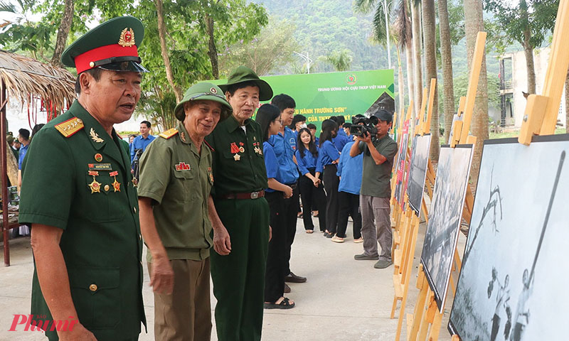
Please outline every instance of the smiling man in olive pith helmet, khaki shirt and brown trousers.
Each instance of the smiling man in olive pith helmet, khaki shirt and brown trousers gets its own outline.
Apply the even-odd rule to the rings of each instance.
[[[211,149],[203,139],[231,114],[219,87],[198,83],[174,109],[175,129],[160,134],[140,159],[140,227],[154,288],[156,340],[211,337],[208,201]],[[219,218],[217,218],[219,219]]]

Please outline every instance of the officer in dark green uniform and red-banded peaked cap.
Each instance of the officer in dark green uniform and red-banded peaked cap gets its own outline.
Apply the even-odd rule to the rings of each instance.
[[[137,191],[113,128],[140,98],[143,37],[137,18],[113,18],[63,52],[78,99],[34,136],[23,162],[31,314],[49,340],[138,340],[146,325]]]

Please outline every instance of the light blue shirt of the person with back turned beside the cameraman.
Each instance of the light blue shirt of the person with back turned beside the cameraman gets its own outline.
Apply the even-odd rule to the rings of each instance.
[[[350,156],[350,148],[354,142],[348,142],[338,161],[338,172],[336,175],[341,176],[338,192],[346,192],[351,194],[360,194],[361,188],[361,172],[363,169],[363,153],[352,158]]]

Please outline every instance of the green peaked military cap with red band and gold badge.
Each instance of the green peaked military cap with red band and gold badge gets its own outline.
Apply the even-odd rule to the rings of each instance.
[[[83,71],[100,67],[113,71],[148,72],[142,65],[137,46],[144,38],[144,26],[132,16],[105,21],[68,46],[61,63]]]

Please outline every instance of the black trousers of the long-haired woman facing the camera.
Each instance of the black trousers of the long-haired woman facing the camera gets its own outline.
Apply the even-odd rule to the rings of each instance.
[[[308,171],[314,175],[314,168]],[[314,187],[312,180],[304,175],[299,178],[298,185],[300,200],[302,200],[302,210],[304,210],[304,214],[302,215],[304,229],[314,229],[314,223],[312,222],[312,215],[310,213],[311,211],[317,210],[320,231],[324,232],[326,229],[326,194],[324,193],[324,188],[322,188],[322,185]]]

